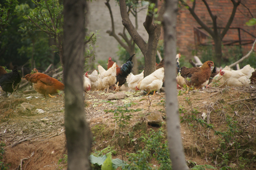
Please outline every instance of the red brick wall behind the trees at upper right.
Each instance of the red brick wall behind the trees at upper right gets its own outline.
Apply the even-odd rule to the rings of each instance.
[[[187,0],[187,2],[189,2],[189,0]],[[207,2],[213,15],[217,15],[218,27],[224,27],[231,15],[233,3],[230,0],[208,0]],[[256,17],[256,0],[241,0],[241,2],[249,7],[254,17]],[[192,3],[189,5],[192,7]],[[212,26],[212,19],[209,16],[206,6],[201,0],[196,1],[195,12],[198,17],[207,24],[207,26]],[[245,24],[250,19],[250,17],[247,16],[250,16],[249,11],[240,4],[236,10],[235,18],[231,24],[231,27],[243,28],[256,36],[256,26],[249,27]],[[196,48],[194,43],[193,27],[200,26],[192,17],[188,9],[182,6],[178,11],[177,16],[177,48],[181,54],[186,55],[187,57],[192,57],[192,50],[195,50]],[[201,30],[205,32],[203,29]],[[230,39],[239,39],[238,31],[236,29],[229,29],[223,40]],[[255,38],[244,32],[241,32],[241,39],[255,40]],[[244,48],[244,54],[251,49],[251,46],[252,44],[242,46]],[[224,46],[223,50],[225,50],[225,48],[226,47]],[[256,50],[256,47],[254,49]]]

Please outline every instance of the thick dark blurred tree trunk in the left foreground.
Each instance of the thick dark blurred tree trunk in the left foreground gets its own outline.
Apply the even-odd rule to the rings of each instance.
[[[91,133],[85,118],[82,88],[86,3],[64,0],[65,134],[69,170],[90,169]]]

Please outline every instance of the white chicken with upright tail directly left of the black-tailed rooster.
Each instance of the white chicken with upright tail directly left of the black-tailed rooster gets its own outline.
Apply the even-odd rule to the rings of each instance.
[[[114,63],[108,70],[105,70],[102,66],[98,65],[98,71],[104,88],[107,88],[108,92],[109,87],[116,84],[116,63]]]

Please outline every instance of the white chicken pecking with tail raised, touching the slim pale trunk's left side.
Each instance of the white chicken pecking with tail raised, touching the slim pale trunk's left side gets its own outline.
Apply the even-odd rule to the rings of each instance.
[[[136,90],[146,90],[148,91],[148,94],[150,91],[154,90],[159,91],[162,87],[163,80],[164,79],[164,68],[159,68],[155,70],[153,73],[150,75],[146,76],[144,79],[142,79],[137,86],[135,86]]]

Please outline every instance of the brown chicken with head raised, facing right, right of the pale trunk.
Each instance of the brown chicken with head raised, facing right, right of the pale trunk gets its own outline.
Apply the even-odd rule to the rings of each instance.
[[[214,66],[212,61],[206,61],[201,67],[187,68],[181,67],[181,76],[185,78],[186,84],[194,89],[202,87],[202,84],[209,80],[211,75],[211,67]],[[190,80],[187,80],[189,78]]]

